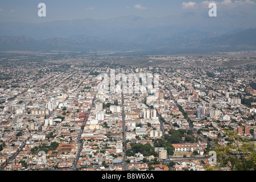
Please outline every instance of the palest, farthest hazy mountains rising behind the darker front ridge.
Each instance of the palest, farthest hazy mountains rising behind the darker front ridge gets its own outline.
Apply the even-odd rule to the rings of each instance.
[[[142,18],[130,15],[102,20],[77,19],[45,23],[0,22],[0,35],[2,36],[30,36],[43,39],[86,35],[131,40],[144,34],[166,38],[186,30],[217,32],[221,35],[233,29],[233,27],[221,26],[218,22],[210,24],[208,19],[193,22],[187,16]]]

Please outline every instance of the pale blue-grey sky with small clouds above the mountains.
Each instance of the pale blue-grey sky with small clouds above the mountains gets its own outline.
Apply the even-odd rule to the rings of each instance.
[[[217,5],[217,18],[256,17],[254,0],[1,0],[0,22],[51,22],[72,19],[109,19],[135,15],[142,17],[208,16],[210,2]],[[39,17],[39,3],[46,4],[46,17]]]

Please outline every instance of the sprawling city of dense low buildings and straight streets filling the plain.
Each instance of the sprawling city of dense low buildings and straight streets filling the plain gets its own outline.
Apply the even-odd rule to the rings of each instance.
[[[3,171],[256,169],[256,51],[1,52],[0,68]]]

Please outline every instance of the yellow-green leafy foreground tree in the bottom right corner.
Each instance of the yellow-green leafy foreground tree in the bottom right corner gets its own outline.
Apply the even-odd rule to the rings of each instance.
[[[243,139],[235,131],[226,130],[225,135],[229,143],[226,146],[215,144],[216,147],[214,148],[220,166],[228,166],[232,171],[255,171],[255,144]]]

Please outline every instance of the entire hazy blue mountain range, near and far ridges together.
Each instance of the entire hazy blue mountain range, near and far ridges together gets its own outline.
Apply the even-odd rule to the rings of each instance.
[[[256,28],[179,27],[158,19],[1,22],[0,51],[214,52],[256,48]],[[205,25],[206,26],[206,25]],[[225,30],[225,31],[224,31]]]

